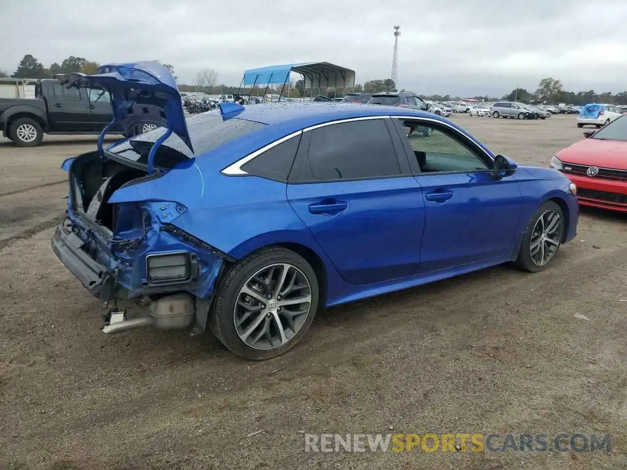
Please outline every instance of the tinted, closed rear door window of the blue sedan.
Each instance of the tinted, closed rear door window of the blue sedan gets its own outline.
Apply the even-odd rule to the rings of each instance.
[[[316,181],[401,174],[392,138],[382,119],[344,122],[311,132],[307,157]]]

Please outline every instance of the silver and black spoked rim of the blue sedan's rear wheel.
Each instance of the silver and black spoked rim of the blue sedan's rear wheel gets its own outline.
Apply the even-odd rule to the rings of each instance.
[[[238,293],[233,320],[249,347],[271,350],[300,331],[311,309],[307,276],[292,264],[271,264],[248,278]]]

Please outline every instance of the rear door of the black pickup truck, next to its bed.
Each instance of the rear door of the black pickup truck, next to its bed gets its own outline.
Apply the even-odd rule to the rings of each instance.
[[[49,88],[48,118],[52,132],[93,132],[89,100],[84,88],[66,88],[53,83]]]

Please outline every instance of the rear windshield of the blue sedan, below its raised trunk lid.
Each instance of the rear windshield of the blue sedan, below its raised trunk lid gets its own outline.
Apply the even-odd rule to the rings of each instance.
[[[223,118],[219,114],[203,113],[196,115],[187,119],[187,132],[189,132],[194,153],[192,154],[179,137],[171,135],[157,149],[154,165],[155,167],[172,169],[184,160],[217,149],[229,140],[243,137],[263,126],[265,124],[238,118]],[[145,165],[148,162],[148,154],[152,145],[165,132],[166,128],[158,127],[115,145],[111,151],[120,157]]]

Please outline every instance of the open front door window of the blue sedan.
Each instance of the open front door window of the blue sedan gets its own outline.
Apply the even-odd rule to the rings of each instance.
[[[490,169],[487,155],[453,130],[435,123],[401,120],[405,138],[421,173],[481,172]]]

